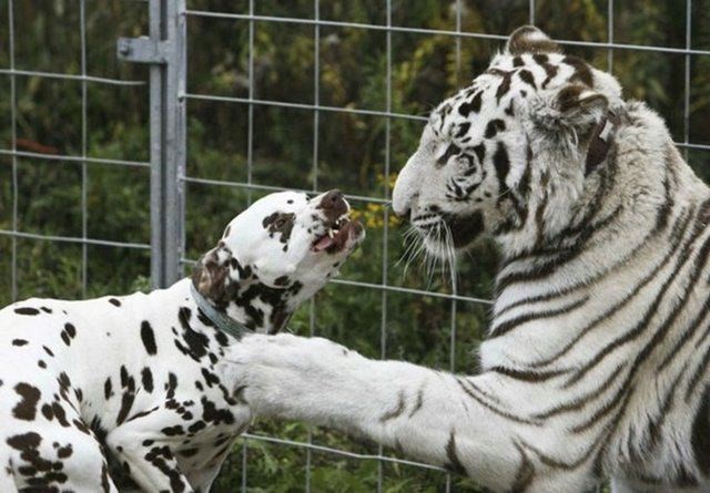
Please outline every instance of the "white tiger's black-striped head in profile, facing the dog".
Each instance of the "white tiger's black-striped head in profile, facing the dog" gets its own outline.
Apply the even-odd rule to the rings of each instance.
[[[434,255],[486,233],[511,249],[539,243],[569,225],[599,181],[622,106],[612,75],[519,28],[432,113],[395,184],[394,210]]]

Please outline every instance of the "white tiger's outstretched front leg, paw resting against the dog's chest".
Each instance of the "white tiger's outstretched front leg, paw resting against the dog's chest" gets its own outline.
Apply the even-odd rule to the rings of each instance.
[[[506,410],[476,389],[476,378],[291,335],[250,336],[230,351],[220,370],[243,386],[256,415],[364,435],[495,491],[571,493],[594,484],[591,460],[554,470],[536,448],[556,450],[555,430]]]

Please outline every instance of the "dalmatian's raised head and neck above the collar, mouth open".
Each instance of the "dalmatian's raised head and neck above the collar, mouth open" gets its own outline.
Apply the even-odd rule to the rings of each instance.
[[[194,268],[195,288],[247,327],[275,332],[365,237],[339,191],[267,195],[226,226]]]

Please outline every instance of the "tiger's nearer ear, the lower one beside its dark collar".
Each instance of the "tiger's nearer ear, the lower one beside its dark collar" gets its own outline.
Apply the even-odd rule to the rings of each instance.
[[[530,117],[547,131],[584,131],[609,110],[609,100],[584,84],[567,84],[532,105]]]

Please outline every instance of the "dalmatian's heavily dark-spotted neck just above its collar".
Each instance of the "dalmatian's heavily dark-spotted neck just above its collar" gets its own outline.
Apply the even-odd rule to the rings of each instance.
[[[277,289],[251,278],[239,283],[230,281],[220,291],[220,296],[200,292],[216,310],[237,323],[255,332],[276,333],[286,326],[296,309],[295,298],[301,289],[300,283]]]

